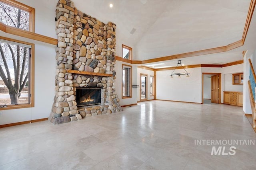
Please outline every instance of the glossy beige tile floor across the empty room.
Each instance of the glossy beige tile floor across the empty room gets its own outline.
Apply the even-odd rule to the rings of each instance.
[[[256,146],[211,156],[195,139],[254,139],[242,107],[151,101],[120,113],[0,129],[0,170],[255,170]]]

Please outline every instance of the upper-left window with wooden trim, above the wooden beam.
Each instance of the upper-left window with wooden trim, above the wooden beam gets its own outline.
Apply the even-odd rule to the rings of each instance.
[[[35,9],[15,0],[0,0],[0,21],[5,25],[34,32]]]

